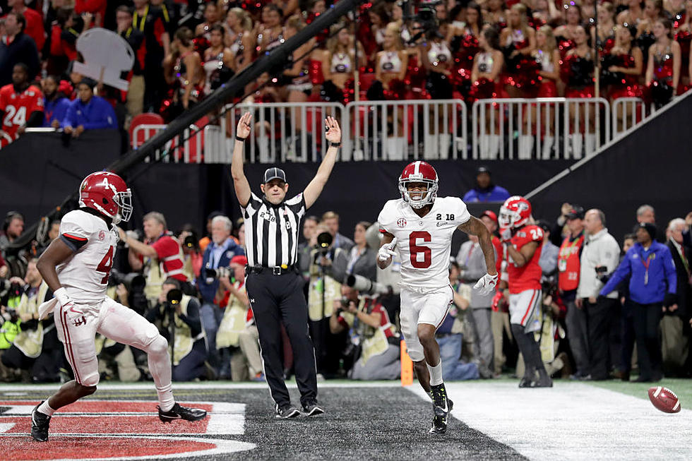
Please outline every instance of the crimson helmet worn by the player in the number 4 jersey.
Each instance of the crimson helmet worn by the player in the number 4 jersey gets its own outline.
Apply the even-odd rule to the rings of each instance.
[[[131,198],[132,193],[125,181],[111,172],[92,173],[79,186],[79,206],[93,208],[112,218],[113,224],[130,220]]]

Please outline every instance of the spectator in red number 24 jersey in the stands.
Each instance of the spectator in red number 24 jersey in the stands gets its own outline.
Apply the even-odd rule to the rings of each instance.
[[[0,88],[0,130],[12,140],[28,126],[43,124],[43,94],[29,83],[29,68],[22,63],[12,68],[12,83]]]

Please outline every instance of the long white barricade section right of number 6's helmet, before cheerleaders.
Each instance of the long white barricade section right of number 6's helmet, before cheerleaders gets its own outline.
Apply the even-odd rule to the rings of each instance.
[[[602,97],[477,100],[473,158],[579,159],[610,140],[610,121],[610,105]]]

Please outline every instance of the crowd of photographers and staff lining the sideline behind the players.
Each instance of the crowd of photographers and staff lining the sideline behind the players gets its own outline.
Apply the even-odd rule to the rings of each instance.
[[[485,172],[480,172],[482,175]],[[506,191],[504,191],[506,192]],[[475,200],[470,197],[470,200]],[[631,234],[612,236],[601,210],[565,203],[558,217],[534,220],[539,246],[542,309],[535,337],[555,378],[659,381],[689,377],[692,357],[692,212],[663,227],[655,210],[637,210]],[[493,234],[497,268],[508,281],[507,251],[494,212],[479,217]],[[9,212],[0,236],[0,380],[55,382],[69,378],[52,318],[38,306],[52,294],[36,269],[37,256],[58,234],[16,251],[23,216]],[[337,212],[307,216],[299,265],[308,301],[318,373],[323,378],[396,379],[400,376],[398,264],[376,267],[378,224],[362,221],[350,234]],[[618,244],[616,237],[621,241]],[[170,232],[165,216],[149,212],[141,230],[120,231],[109,296],[153,321],[171,347],[175,381],[263,381],[257,328],[244,288],[247,259],[242,220],[209,215],[203,234],[191,224]],[[453,306],[436,333],[446,381],[522,376],[513,340],[508,291],[481,297],[472,290],[485,271],[477,239],[453,254]],[[283,366],[292,374],[285,332]],[[635,347],[636,345],[636,347]],[[97,338],[103,379],[148,376],[138,349]]]

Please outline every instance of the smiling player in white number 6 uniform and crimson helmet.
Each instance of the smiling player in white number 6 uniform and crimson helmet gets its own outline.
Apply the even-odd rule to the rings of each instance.
[[[426,162],[412,162],[399,176],[401,198],[389,200],[378,217],[383,233],[377,265],[386,268],[398,251],[401,260],[401,331],[416,376],[433,400],[431,433],[444,433],[452,402],[442,382],[440,347],[435,331],[452,303],[448,267],[452,234],[476,235],[488,273],[475,289],[491,292],[498,280],[495,251],[485,224],[469,214],[457,197],[437,198],[438,178]]]

